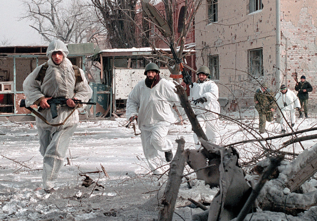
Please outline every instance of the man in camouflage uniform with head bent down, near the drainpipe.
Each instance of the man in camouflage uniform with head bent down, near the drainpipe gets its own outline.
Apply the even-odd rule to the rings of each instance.
[[[262,134],[265,131],[266,121],[273,121],[273,114],[276,109],[274,94],[268,89],[266,82],[262,84],[261,88],[256,90],[254,102],[259,113],[259,133]]]

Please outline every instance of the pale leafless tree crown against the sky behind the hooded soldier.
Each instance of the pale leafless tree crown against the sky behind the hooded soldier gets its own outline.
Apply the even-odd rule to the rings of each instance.
[[[94,11],[81,0],[23,0],[30,19],[44,41],[59,39],[65,43],[85,43],[103,32],[96,22]]]

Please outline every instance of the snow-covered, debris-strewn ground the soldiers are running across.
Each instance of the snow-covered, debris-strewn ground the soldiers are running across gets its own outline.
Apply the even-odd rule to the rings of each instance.
[[[258,127],[254,110],[225,115],[238,119],[244,127]],[[168,138],[174,142],[174,154],[177,148],[175,140],[181,136],[186,141],[185,148],[193,148],[191,125],[185,123],[171,125]],[[260,137],[223,117],[219,123],[223,145]],[[132,127],[124,127],[125,118],[80,122],[69,146],[67,157],[70,165],[65,159],[65,166],[55,183],[57,191],[52,194],[44,193],[41,188],[42,156],[38,151],[36,125],[33,124],[0,122],[0,220],[148,220],[158,217],[157,195],[161,194],[160,189],[164,190],[167,175],[159,177],[149,173],[140,136],[134,135]],[[294,130],[316,127],[316,124],[315,116],[297,119]],[[278,123],[267,123],[266,129],[268,132],[263,137],[279,135],[281,130]],[[315,131],[299,136],[309,134],[315,134]],[[277,149],[289,138],[262,144]],[[314,140],[302,142],[304,148],[310,148],[314,143]],[[238,145],[236,149],[240,163],[248,165],[262,152],[258,142]],[[282,150],[300,153],[302,148],[297,143]],[[162,161],[162,165],[164,163]],[[109,178],[102,172],[101,165]],[[164,168],[168,169],[168,165]],[[101,172],[89,173],[94,171]],[[186,167],[184,173],[189,171]],[[81,186],[84,179],[81,174],[88,175],[99,186],[96,183]],[[173,220],[191,220],[191,214],[202,212],[199,208],[192,208],[187,198],[210,202],[217,193],[217,189],[210,189],[203,181],[192,180],[191,185],[189,188],[184,179]]]

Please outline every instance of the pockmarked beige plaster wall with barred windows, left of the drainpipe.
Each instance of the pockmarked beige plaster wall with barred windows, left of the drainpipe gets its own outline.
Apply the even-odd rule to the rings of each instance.
[[[259,88],[247,74],[248,50],[263,48],[264,77],[258,80],[275,88],[275,1],[262,3],[262,10],[249,13],[249,0],[218,1],[218,21],[208,24],[205,2],[195,17],[197,66],[209,66],[208,56],[218,55],[219,97],[231,102],[236,97],[239,106],[254,105],[253,95]]]

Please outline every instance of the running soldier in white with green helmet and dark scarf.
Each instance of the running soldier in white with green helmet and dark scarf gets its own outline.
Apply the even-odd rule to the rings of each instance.
[[[165,152],[167,162],[173,158],[173,144],[166,136],[171,123],[177,121],[172,106],[179,102],[174,83],[161,79],[159,73],[159,66],[147,64],[146,79],[135,85],[126,102],[126,119],[138,119],[144,156],[155,175],[164,173],[158,151]]]

